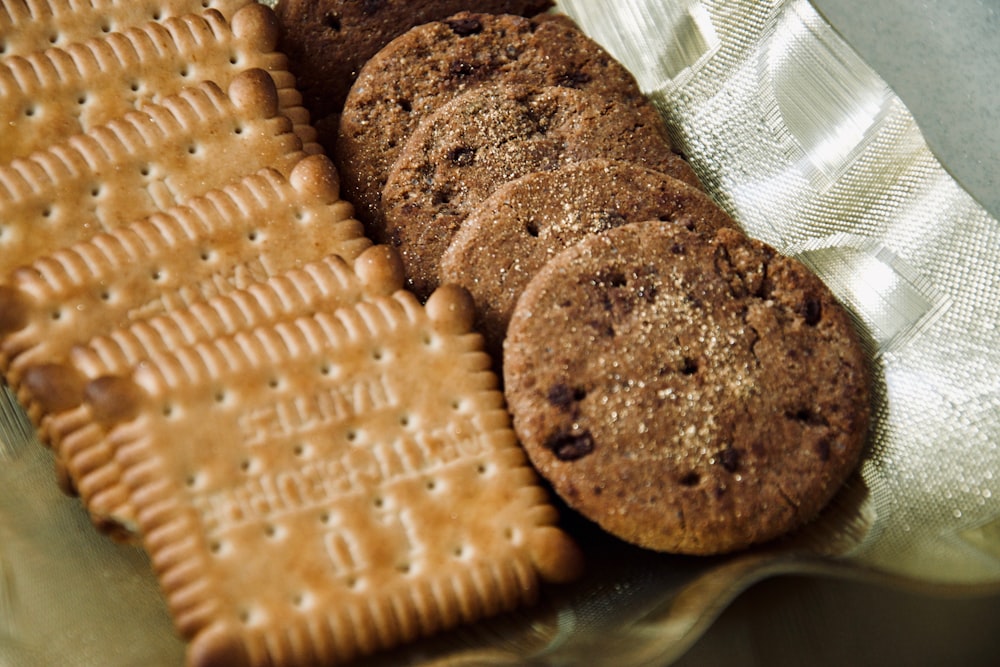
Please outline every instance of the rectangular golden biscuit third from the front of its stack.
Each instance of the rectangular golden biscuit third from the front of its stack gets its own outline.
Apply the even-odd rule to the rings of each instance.
[[[0,289],[0,371],[35,424],[71,401],[70,349],[131,322],[371,245],[333,164],[307,157],[61,248]]]

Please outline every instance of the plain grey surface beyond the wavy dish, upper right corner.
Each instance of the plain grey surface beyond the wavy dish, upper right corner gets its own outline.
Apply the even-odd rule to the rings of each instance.
[[[1000,0],[811,0],[1000,218]]]

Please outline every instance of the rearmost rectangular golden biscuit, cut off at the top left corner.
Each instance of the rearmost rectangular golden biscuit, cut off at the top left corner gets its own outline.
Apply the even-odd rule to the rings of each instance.
[[[0,57],[25,56],[205,9],[228,19],[251,1],[0,0]]]

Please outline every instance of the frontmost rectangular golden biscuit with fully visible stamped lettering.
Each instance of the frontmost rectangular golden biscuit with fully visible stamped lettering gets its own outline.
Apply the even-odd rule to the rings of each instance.
[[[340,663],[578,572],[472,316],[400,291],[91,383],[189,664]]]

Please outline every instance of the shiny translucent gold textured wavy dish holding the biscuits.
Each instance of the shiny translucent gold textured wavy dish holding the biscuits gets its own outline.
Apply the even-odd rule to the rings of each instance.
[[[849,307],[875,369],[870,445],[827,511],[726,557],[574,526],[590,558],[530,609],[374,664],[665,664],[763,577],[1000,589],[1000,223],[806,0],[566,0],[636,75],[710,193]],[[568,519],[572,522],[572,518]],[[143,553],[99,535],[0,397],[0,664],[175,665]]]

